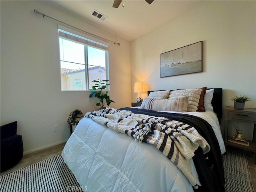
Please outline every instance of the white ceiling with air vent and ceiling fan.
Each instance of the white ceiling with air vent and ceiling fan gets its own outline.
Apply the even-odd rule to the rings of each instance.
[[[123,0],[118,8],[112,8],[114,0],[54,0],[52,2],[128,41],[146,34],[200,3],[194,0],[154,0],[149,5],[145,0]],[[108,18],[102,21],[92,16],[94,9]]]

